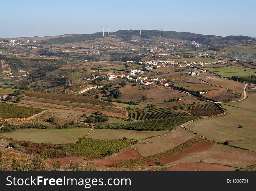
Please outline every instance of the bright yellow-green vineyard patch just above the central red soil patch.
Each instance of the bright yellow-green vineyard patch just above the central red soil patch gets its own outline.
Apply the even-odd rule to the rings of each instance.
[[[74,156],[100,158],[105,156],[109,150],[113,151],[113,153],[116,153],[134,143],[134,140],[81,139],[78,143],[74,144],[70,153]]]

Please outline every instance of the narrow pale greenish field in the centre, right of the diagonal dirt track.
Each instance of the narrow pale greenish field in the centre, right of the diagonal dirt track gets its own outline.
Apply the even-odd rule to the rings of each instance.
[[[122,139],[126,137],[127,139],[144,139],[151,136],[162,135],[168,133],[169,131],[131,131],[124,129],[93,129],[89,136],[86,138],[92,139]]]

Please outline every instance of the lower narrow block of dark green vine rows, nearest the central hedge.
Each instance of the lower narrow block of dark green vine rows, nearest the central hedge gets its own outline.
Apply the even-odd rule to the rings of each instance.
[[[133,117],[135,120],[149,120],[149,119],[167,119],[172,117],[186,117],[190,116],[187,112],[180,113],[130,113],[130,117]]]

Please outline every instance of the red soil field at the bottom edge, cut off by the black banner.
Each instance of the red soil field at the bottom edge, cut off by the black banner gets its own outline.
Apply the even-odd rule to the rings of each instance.
[[[164,170],[236,170],[237,168],[209,163],[191,163],[176,165]]]

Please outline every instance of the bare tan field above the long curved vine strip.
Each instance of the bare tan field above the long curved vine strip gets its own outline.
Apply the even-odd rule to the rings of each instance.
[[[172,149],[177,145],[193,138],[195,135],[183,128],[177,128],[161,137],[152,138],[136,147],[142,156],[149,156]]]

